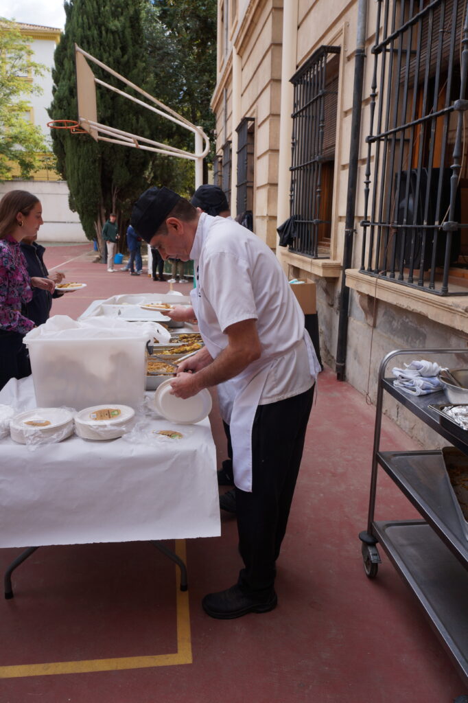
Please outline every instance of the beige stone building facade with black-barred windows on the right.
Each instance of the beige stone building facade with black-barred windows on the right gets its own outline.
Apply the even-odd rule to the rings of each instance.
[[[322,358],[371,397],[392,349],[467,347],[464,13],[219,0],[215,181],[287,276],[316,283]]]

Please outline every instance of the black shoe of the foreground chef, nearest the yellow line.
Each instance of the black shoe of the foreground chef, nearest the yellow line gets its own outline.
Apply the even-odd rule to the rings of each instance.
[[[266,613],[278,604],[275,591],[266,599],[260,599],[248,593],[242,593],[238,583],[226,591],[209,593],[202,600],[202,607],[210,617],[230,620],[247,613]]]

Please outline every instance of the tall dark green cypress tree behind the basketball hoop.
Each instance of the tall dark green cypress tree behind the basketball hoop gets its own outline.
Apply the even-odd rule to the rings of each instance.
[[[74,44],[143,89],[151,92],[148,65],[142,51],[141,1],[65,1],[65,33],[55,54],[53,120],[77,118]],[[123,89],[117,79],[91,64],[96,77]],[[98,121],[133,134],[151,132],[148,110],[108,89],[97,90]],[[96,143],[84,134],[53,130],[58,170],[70,188],[70,207],[76,210],[86,236],[98,237],[110,212],[116,212],[124,231],[131,204],[153,177],[155,158],[148,152]]]

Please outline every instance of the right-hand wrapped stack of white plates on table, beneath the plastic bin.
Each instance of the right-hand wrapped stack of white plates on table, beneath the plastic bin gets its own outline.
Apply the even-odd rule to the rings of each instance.
[[[117,439],[129,432],[134,424],[134,409],[119,404],[84,408],[74,418],[75,432],[83,439]]]

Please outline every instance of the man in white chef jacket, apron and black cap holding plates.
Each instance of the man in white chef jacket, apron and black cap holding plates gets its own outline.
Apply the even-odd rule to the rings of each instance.
[[[233,446],[238,582],[202,601],[212,617],[277,604],[275,560],[285,535],[311,411],[316,353],[278,259],[233,220],[200,213],[169,188],[149,188],[131,224],[163,259],[193,259],[192,302],[204,348],[178,366],[172,392],[217,386]]]

